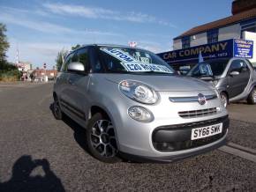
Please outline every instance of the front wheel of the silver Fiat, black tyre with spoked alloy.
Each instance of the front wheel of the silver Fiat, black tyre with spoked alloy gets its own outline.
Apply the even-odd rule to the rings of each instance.
[[[94,158],[106,163],[120,161],[112,122],[103,114],[94,114],[87,126],[87,146]]]

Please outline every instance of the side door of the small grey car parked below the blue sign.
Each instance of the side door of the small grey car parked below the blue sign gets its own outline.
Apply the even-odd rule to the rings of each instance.
[[[231,72],[237,71],[239,74],[230,75]],[[242,59],[235,59],[230,64],[229,74],[229,88],[228,92],[230,98],[236,97],[244,92],[245,86],[248,84],[250,78],[250,70]]]

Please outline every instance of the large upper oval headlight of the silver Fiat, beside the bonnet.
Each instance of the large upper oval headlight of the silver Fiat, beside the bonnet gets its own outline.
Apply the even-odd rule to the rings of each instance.
[[[120,82],[119,89],[124,95],[140,103],[154,104],[158,100],[152,88],[137,81],[124,80]]]

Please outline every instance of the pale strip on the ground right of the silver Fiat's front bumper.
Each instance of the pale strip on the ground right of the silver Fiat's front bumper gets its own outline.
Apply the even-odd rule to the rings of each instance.
[[[236,144],[237,145],[237,144]],[[240,145],[240,147],[243,147]],[[245,147],[243,147],[245,148]],[[246,148],[249,149],[249,148]],[[235,155],[237,157],[243,158],[243,159],[247,159],[247,160],[251,160],[252,162],[256,163],[256,155],[246,152],[246,151],[241,151],[239,149],[224,145],[221,148],[219,148],[220,151]],[[252,150],[252,149],[250,149]]]

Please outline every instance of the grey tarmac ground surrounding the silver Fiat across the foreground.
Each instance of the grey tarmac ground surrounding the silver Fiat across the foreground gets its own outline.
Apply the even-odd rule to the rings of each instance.
[[[51,95],[51,83],[0,85],[1,192],[255,191],[256,106],[230,105],[229,143],[219,150],[168,164],[109,165],[87,152],[84,129],[55,120]]]

